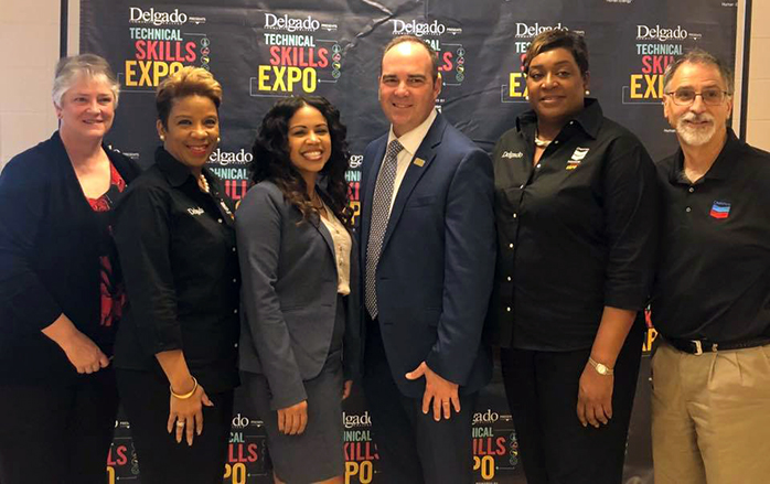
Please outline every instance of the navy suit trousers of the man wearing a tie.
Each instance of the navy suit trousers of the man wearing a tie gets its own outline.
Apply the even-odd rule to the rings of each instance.
[[[469,484],[473,482],[471,420],[478,394],[460,396],[460,413],[434,420],[432,407],[423,413],[423,399],[398,390],[385,357],[376,322],[367,319],[363,380],[372,412],[372,429],[383,475],[394,484]],[[374,331],[373,331],[374,329]]]

